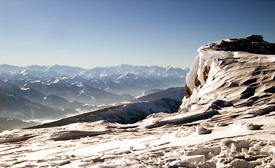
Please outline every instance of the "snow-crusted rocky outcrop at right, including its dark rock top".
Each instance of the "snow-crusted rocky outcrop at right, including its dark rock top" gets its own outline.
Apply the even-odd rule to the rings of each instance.
[[[246,81],[255,80],[256,82],[256,80],[261,79],[260,77],[257,78],[255,71],[259,73],[257,75],[261,76],[260,70],[264,69],[265,66],[274,64],[274,44],[264,41],[262,36],[251,35],[246,38],[228,38],[202,45],[197,50],[199,55],[195,57],[190,72],[186,76],[186,96],[183,99],[181,111],[192,110],[192,104],[205,102],[206,97],[209,98],[207,101],[217,99],[220,94],[217,89],[232,87],[234,84],[230,83],[231,81],[239,86],[234,87],[239,89],[239,92],[235,94],[241,95],[244,90],[249,88],[246,87]],[[247,67],[248,64],[251,64],[249,68]],[[232,71],[230,68],[234,69],[236,74],[229,76],[229,71]],[[218,76],[219,78],[217,78]],[[270,78],[273,77],[270,76]],[[261,80],[261,82],[270,83],[270,80]],[[223,96],[228,99],[228,95]],[[223,98],[220,97],[220,99]],[[233,99],[230,101],[232,102]],[[193,106],[193,108],[195,107]]]

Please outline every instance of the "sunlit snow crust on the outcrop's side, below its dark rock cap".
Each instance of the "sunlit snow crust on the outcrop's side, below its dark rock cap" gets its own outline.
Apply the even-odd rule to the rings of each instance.
[[[202,78],[202,75],[198,75],[199,80],[202,82],[202,85],[199,85],[198,87],[195,86],[194,81],[196,78],[196,74],[203,73],[201,70],[199,70],[199,68],[197,69],[197,71],[195,71],[195,68],[192,67],[190,73],[188,73],[186,77],[187,85],[188,87],[190,87],[190,90],[192,90],[193,93],[189,99],[183,99],[183,104],[181,105],[181,109],[183,109],[183,111],[190,111],[190,109],[192,108],[192,104],[198,101],[205,102],[211,99],[224,99],[224,97],[226,97],[228,101],[233,101],[239,98],[239,95],[248,88],[248,86],[245,85],[245,82],[253,79],[253,76],[251,76],[251,72],[256,71],[258,66],[268,66],[269,64],[274,63],[270,62],[274,55],[253,55],[248,52],[230,52],[231,54],[223,55],[222,52],[217,52],[219,52],[220,57],[223,57],[225,61],[223,59],[220,59],[220,57],[213,60],[213,62],[211,63],[211,69],[209,71],[209,78],[207,78],[206,83],[203,82],[204,79]],[[235,55],[237,55],[237,57],[235,57]],[[214,56],[216,57],[216,55]],[[204,53],[201,53],[199,57],[204,57]],[[254,59],[252,59],[252,57]],[[258,57],[260,57],[260,59]],[[232,63],[228,64],[227,66],[225,65],[227,64],[226,62]],[[251,66],[247,67],[246,64],[242,62],[249,62]],[[200,64],[207,65],[208,63]],[[238,71],[239,69],[241,69],[241,72]],[[255,90],[255,96],[260,96],[262,93],[265,93],[262,92],[262,90],[267,89],[265,87],[270,88],[272,87],[271,85],[274,85],[269,82],[269,80],[272,80],[272,78],[274,78],[274,71],[272,70],[272,68],[269,70],[270,73],[268,79],[264,79],[262,77],[257,78],[257,80],[262,80],[262,82],[265,82],[267,84],[259,85],[259,87],[257,87],[257,89]],[[230,76],[229,73],[233,73],[234,71],[238,71],[238,73],[236,73],[236,76]],[[230,87],[232,82],[237,83],[239,86]],[[218,90],[220,92],[218,92]]]

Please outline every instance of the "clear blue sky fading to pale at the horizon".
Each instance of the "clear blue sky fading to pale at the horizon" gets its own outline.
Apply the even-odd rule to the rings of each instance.
[[[0,64],[188,68],[197,48],[261,34],[275,1],[0,0]]]

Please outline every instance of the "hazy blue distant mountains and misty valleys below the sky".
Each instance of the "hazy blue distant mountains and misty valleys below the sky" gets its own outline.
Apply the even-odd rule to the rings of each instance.
[[[138,102],[135,97],[141,97],[145,92],[183,86],[188,71],[127,64],[94,69],[1,64],[0,116],[21,120],[57,119],[123,102]],[[171,92],[175,95],[175,90]],[[149,100],[155,98],[143,99]]]

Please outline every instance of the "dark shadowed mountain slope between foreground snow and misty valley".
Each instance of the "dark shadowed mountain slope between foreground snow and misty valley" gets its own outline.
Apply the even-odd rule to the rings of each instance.
[[[56,120],[52,123],[35,126],[34,128],[57,127],[61,125],[69,125],[71,123],[92,122],[98,120],[106,120],[112,123],[136,123],[145,119],[153,113],[174,113],[177,111],[180,102],[176,99],[163,98],[148,102],[136,102],[112,106],[98,111],[83,113]]]

